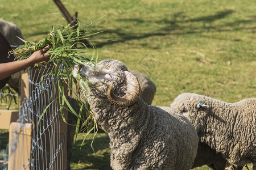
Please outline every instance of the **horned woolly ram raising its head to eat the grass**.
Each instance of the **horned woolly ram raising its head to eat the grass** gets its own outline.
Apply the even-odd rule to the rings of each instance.
[[[77,77],[78,68],[73,75]],[[139,83],[117,60],[82,67],[92,86],[81,88],[94,117],[110,138],[113,169],[190,169],[198,137],[193,125],[175,109],[154,107],[139,99]]]

